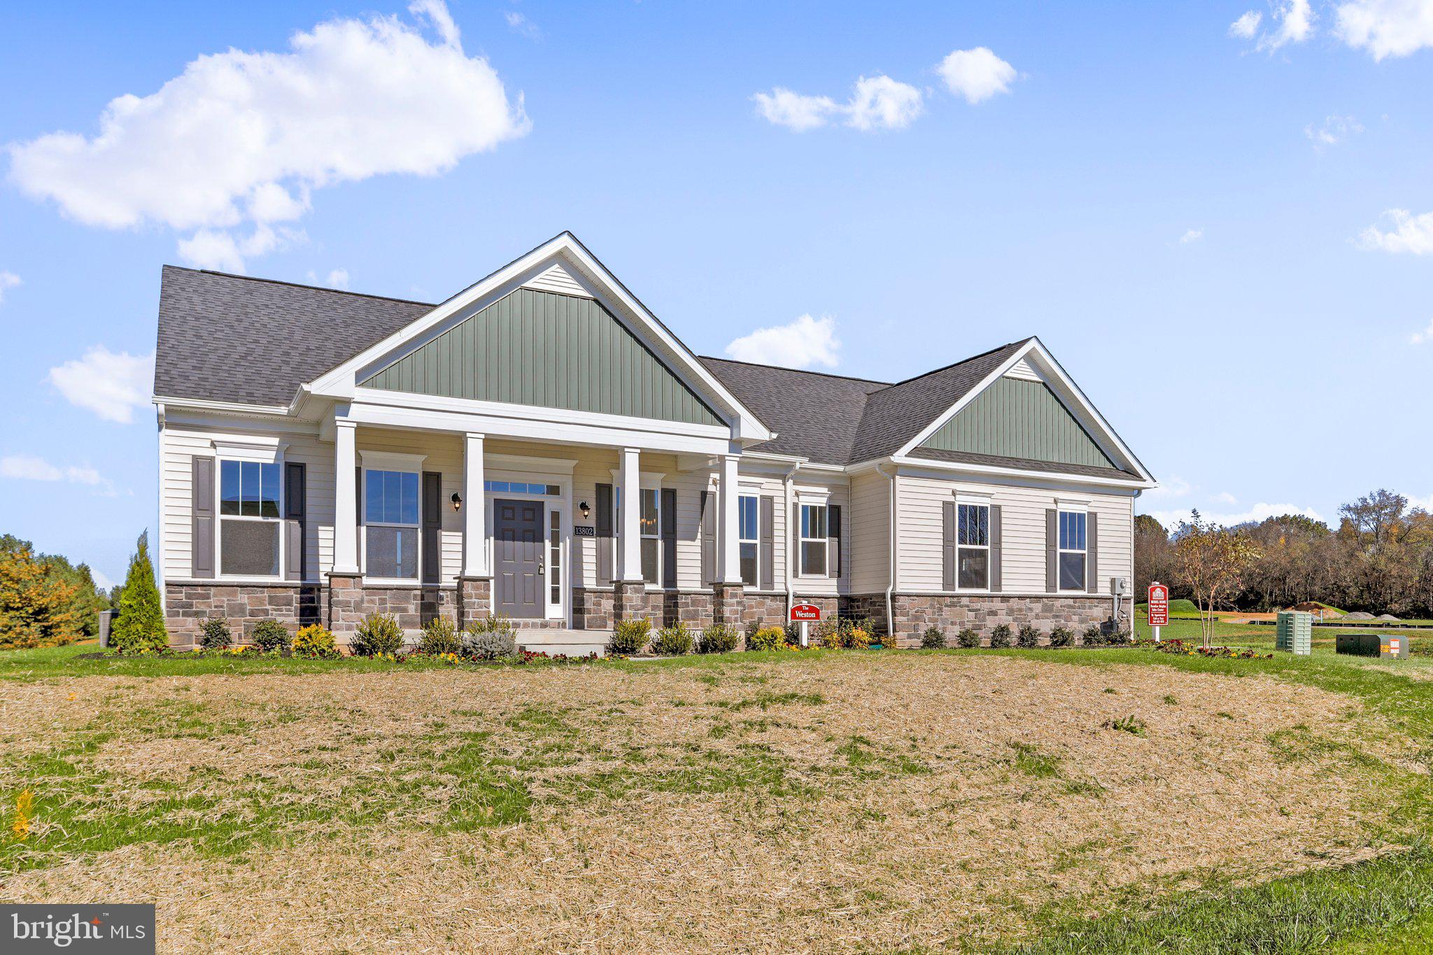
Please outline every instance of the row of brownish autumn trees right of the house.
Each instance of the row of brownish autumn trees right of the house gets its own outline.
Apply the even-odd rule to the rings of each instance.
[[[1217,604],[1274,610],[1317,600],[1347,611],[1433,617],[1433,514],[1380,488],[1340,507],[1338,518],[1337,528],[1300,514],[1221,528],[1247,541],[1251,558]],[[1171,597],[1195,597],[1178,544],[1198,533],[1197,524],[1198,517],[1166,528],[1148,514],[1135,517],[1138,594],[1158,580]]]

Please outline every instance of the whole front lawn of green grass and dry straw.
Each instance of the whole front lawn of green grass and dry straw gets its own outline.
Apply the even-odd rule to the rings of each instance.
[[[1386,951],[1433,912],[1433,660],[73,657],[0,656],[0,898],[153,899],[162,951]]]

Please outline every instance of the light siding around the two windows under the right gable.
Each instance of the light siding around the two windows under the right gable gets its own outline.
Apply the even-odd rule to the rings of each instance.
[[[941,588],[940,507],[953,500],[957,488],[989,494],[990,503],[1000,505],[1005,593],[1046,593],[1045,511],[1056,507],[1056,498],[1089,501],[1091,513],[1099,514],[1099,593],[1109,593],[1111,577],[1134,577],[1134,517],[1128,494],[910,475],[898,481],[901,591]]]

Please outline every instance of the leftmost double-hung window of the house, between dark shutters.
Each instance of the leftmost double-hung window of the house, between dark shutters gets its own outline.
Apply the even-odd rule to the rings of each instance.
[[[219,574],[278,577],[279,465],[219,461]]]

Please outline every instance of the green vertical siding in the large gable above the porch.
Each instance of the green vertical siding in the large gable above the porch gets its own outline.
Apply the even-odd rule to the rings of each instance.
[[[446,398],[721,425],[590,298],[522,288],[360,382]]]

